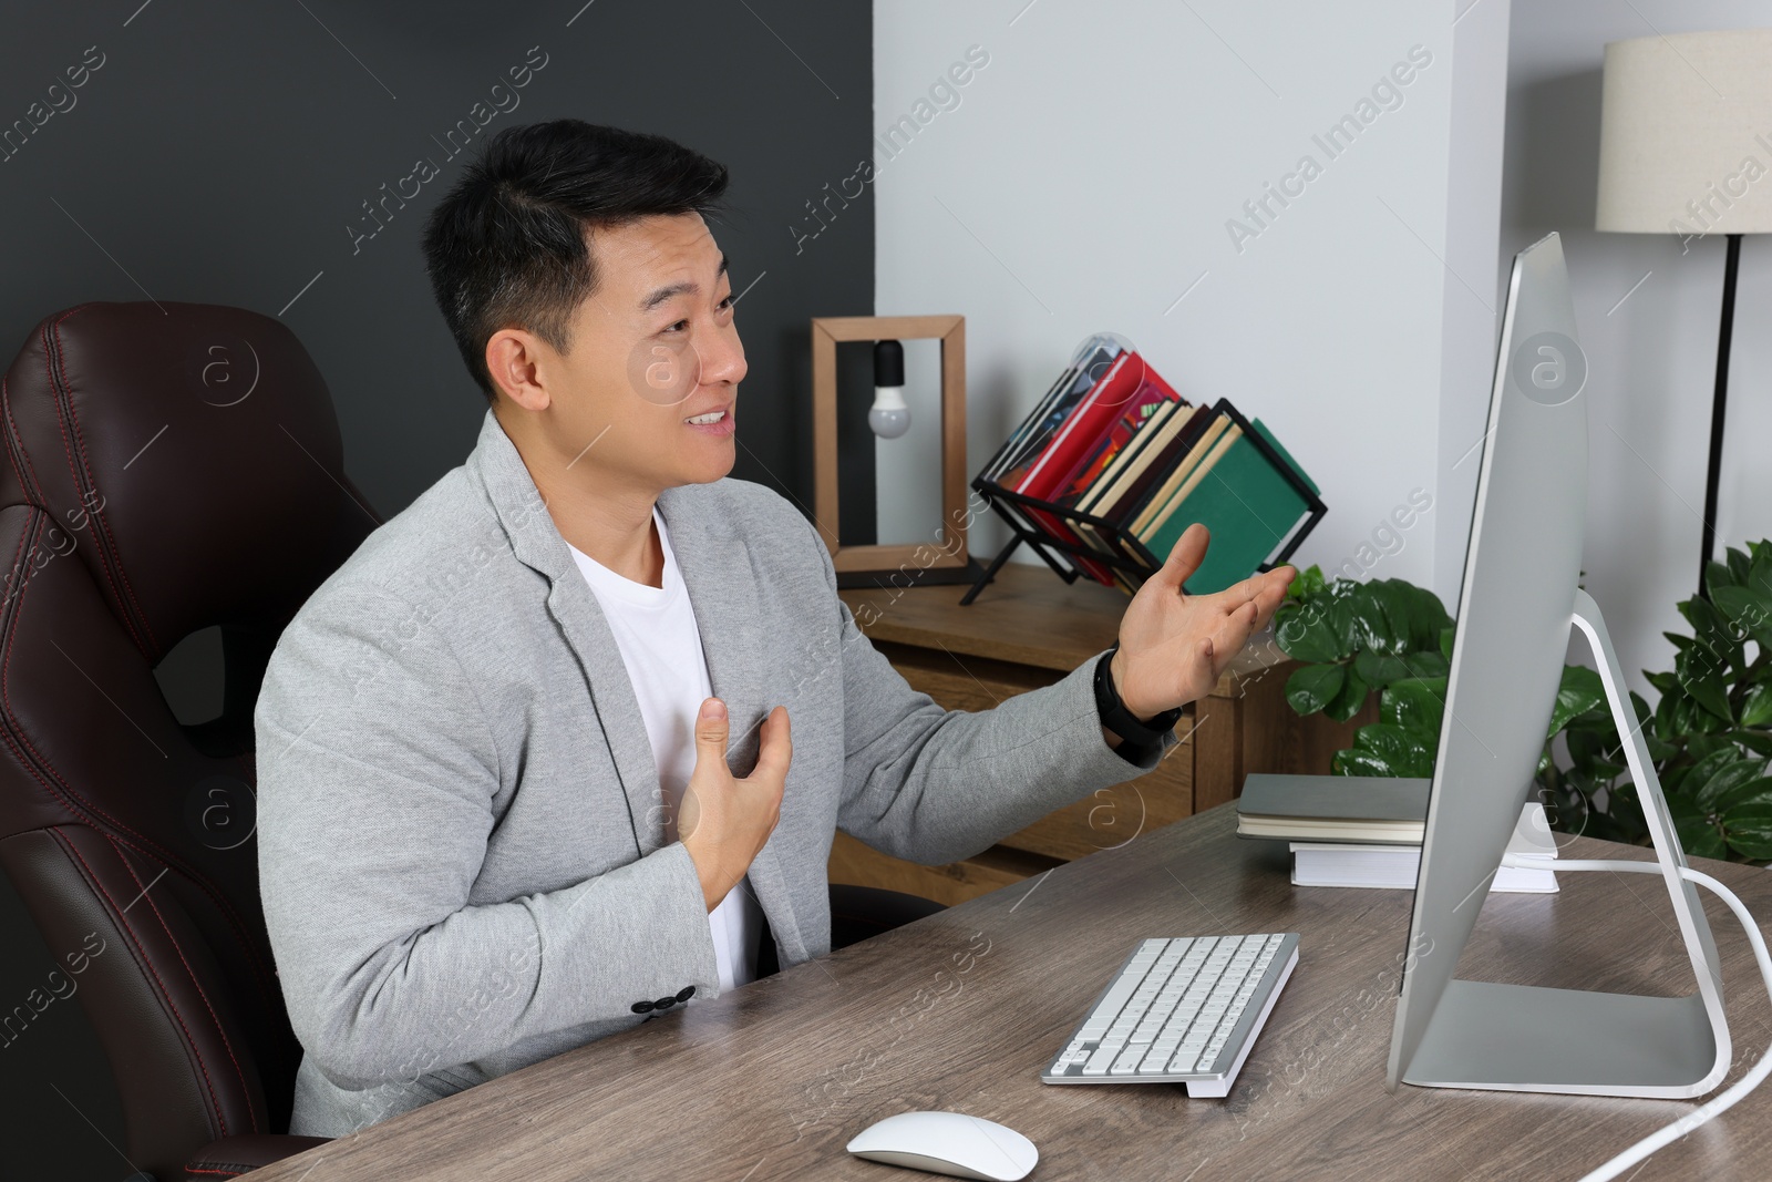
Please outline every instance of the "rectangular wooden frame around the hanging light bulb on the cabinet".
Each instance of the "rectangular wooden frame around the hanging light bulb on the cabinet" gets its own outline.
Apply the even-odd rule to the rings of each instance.
[[[929,542],[843,546],[836,537],[836,342],[840,340],[941,340],[941,528]],[[966,317],[813,317],[812,447],[812,510],[838,574],[971,565],[966,553]]]

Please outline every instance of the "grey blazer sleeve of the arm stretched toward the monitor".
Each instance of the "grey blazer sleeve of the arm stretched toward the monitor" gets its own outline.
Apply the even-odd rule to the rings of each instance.
[[[810,525],[806,530],[822,556],[842,642],[843,794],[836,824],[843,833],[907,861],[959,861],[1054,808],[1145,774],[1180,743],[1170,732],[1138,764],[1108,746],[1093,688],[1100,654],[989,711],[936,705],[856,626],[849,604],[836,597],[829,551]]]

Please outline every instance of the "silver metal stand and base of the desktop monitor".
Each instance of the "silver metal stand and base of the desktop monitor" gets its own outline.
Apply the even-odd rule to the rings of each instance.
[[[1698,992],[1648,998],[1451,980],[1403,1083],[1687,1099],[1705,1095],[1728,1072],[1729,1026],[1722,1014],[1717,946],[1698,888],[1680,877],[1687,865],[1685,852],[1637,728],[1600,606],[1579,588],[1574,624],[1588,636],[1613,705],[1613,721],[1625,735],[1625,762],[1643,801]]]

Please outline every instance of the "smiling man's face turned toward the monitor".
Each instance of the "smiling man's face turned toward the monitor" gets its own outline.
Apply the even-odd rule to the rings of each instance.
[[[571,353],[537,342],[548,445],[649,493],[718,480],[746,365],[714,236],[695,213],[652,216],[592,230],[590,252],[599,284]]]

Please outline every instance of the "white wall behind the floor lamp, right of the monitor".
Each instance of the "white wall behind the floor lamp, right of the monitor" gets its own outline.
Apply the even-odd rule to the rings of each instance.
[[[1698,587],[1710,399],[1722,299],[1721,237],[1682,253],[1671,236],[1593,230],[1604,44],[1765,25],[1747,0],[1559,0],[1517,4],[1508,51],[1501,268],[1559,230],[1588,354],[1589,500],[1586,587],[1605,610],[1632,686],[1671,668],[1664,629],[1689,631],[1675,603]],[[1501,271],[1504,275],[1504,269]],[[1644,276],[1648,276],[1644,280]],[[1632,285],[1643,285],[1632,292]],[[1628,292],[1628,298],[1625,298]],[[1623,299],[1623,303],[1620,303]],[[1772,535],[1772,241],[1742,243],[1731,400],[1717,539]]]

